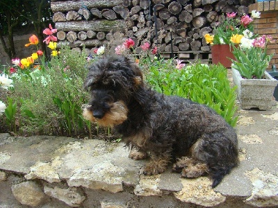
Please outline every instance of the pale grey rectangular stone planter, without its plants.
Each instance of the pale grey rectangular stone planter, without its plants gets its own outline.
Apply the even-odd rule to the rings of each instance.
[[[238,87],[238,100],[243,109],[258,107],[268,110],[276,101],[273,96],[278,80],[265,71],[265,79],[243,79],[236,69],[232,69],[234,84]]]

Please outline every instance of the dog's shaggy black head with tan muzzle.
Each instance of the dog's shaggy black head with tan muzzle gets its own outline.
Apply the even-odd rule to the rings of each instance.
[[[89,67],[84,87],[91,94],[83,116],[99,125],[113,126],[127,118],[128,103],[142,89],[142,71],[128,58],[110,55]]]

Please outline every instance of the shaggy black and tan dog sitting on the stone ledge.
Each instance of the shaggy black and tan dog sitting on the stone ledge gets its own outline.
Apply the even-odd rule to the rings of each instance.
[[[111,126],[133,159],[150,155],[145,174],[163,173],[171,159],[183,177],[210,175],[217,186],[238,164],[236,132],[211,108],[145,86],[138,65],[122,56],[100,58],[89,68],[85,89],[92,99],[86,119]]]

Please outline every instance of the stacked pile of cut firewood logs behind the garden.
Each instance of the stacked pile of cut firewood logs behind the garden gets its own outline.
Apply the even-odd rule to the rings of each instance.
[[[95,49],[131,37],[161,53],[210,52],[204,35],[224,13],[248,13],[248,0],[72,0],[51,1],[60,44]],[[157,37],[156,37],[157,35]],[[140,47],[138,47],[140,49]],[[184,55],[181,55],[181,57]]]

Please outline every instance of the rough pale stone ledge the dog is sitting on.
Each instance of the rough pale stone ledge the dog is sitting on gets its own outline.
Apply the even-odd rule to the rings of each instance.
[[[170,168],[141,175],[146,161],[130,159],[122,143],[0,134],[0,207],[275,207],[278,126],[260,129],[275,127],[278,112],[241,114],[240,166],[215,189],[208,177],[184,179]]]

